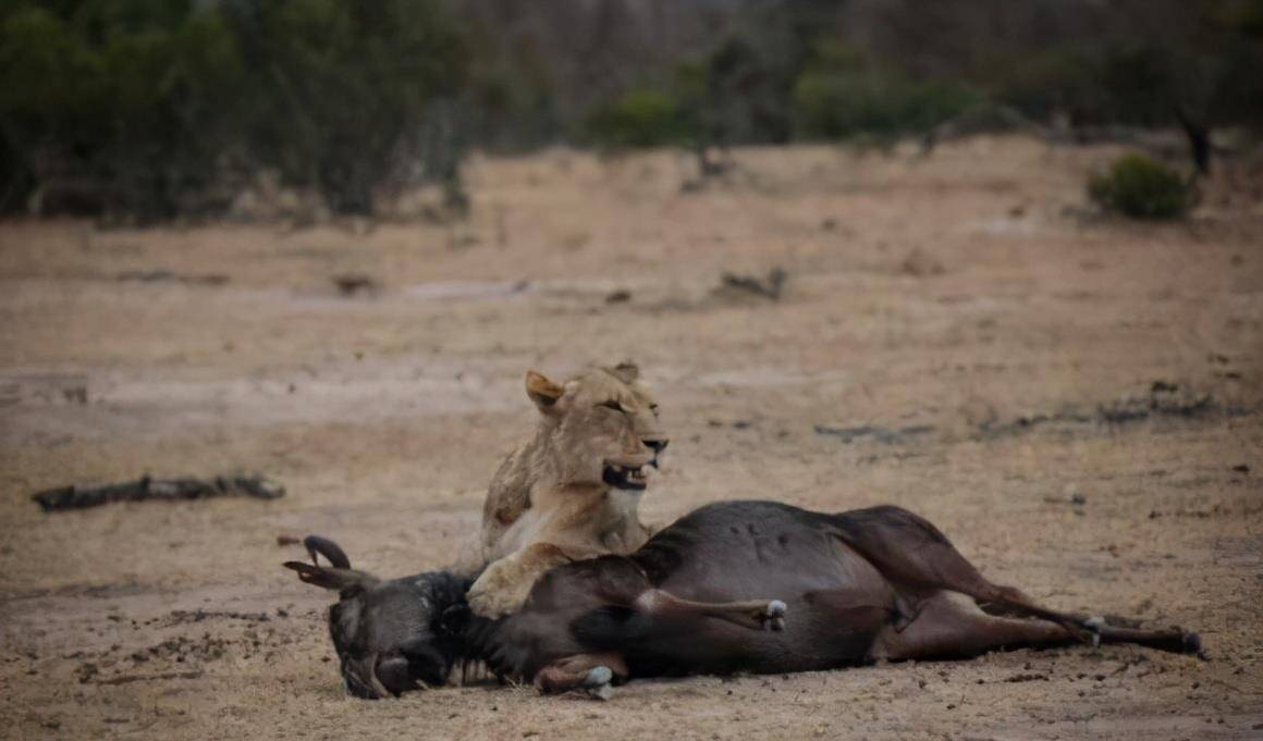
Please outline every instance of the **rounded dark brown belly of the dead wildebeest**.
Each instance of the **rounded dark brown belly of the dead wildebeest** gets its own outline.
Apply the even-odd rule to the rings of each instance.
[[[639,554],[657,587],[686,600],[781,600],[783,631],[714,617],[666,626],[628,651],[633,674],[802,672],[863,661],[895,611],[889,583],[831,534],[829,516],[775,502],[703,507]]]

